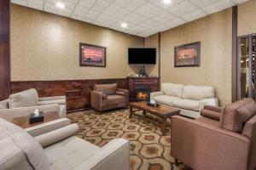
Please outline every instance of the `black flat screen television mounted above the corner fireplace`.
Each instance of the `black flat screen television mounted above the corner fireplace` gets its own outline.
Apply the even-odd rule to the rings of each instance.
[[[156,62],[155,48],[129,48],[128,63],[141,65],[154,65]]]

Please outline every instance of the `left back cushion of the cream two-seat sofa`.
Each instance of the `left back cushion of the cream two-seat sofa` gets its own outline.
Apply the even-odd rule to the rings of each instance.
[[[166,95],[182,98],[183,97],[183,84],[174,84],[171,82],[163,82],[161,84],[161,91]]]

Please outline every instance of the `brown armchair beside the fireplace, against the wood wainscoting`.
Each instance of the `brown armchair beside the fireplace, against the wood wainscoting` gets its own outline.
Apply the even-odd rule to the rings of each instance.
[[[90,92],[91,107],[96,111],[127,107],[128,102],[128,90],[118,88],[117,83],[96,84]]]

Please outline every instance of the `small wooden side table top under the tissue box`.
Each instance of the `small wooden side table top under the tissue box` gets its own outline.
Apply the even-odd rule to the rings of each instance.
[[[45,122],[55,121],[60,118],[61,117],[59,116],[59,114],[54,111],[54,112],[44,113],[44,122],[36,122],[36,123],[29,124],[29,116],[15,117],[12,122],[15,125],[18,125],[19,127],[28,128],[28,127],[34,127],[34,126],[43,124]]]

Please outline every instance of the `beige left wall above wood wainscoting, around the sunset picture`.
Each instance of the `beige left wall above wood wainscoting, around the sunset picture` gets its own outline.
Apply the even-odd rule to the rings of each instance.
[[[124,78],[143,38],[12,4],[11,81]],[[107,47],[107,67],[79,67],[79,42]]]

